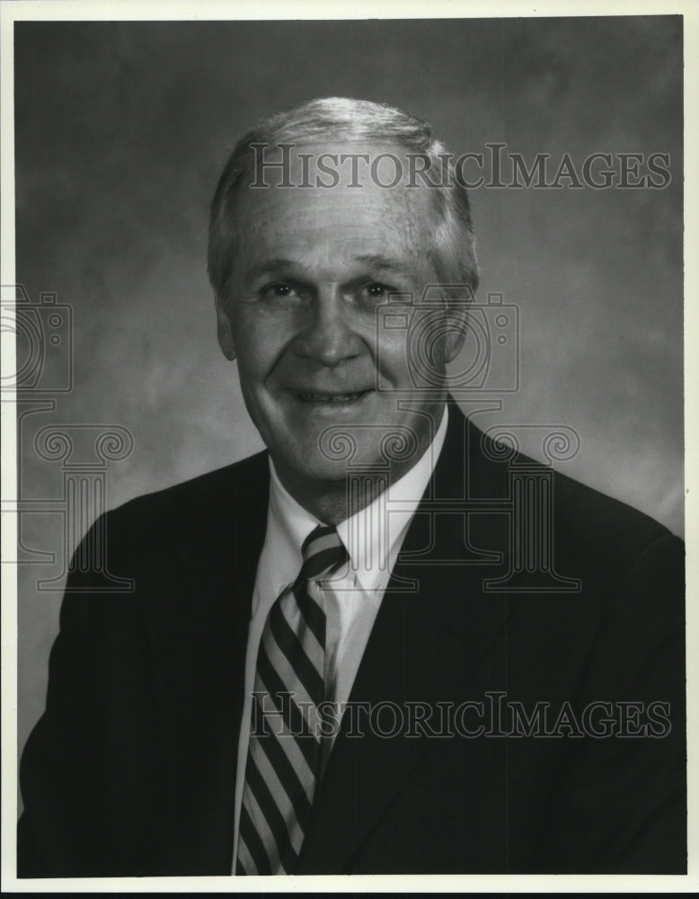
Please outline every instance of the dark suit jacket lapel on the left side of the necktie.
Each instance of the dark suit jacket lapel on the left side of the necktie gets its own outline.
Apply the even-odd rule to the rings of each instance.
[[[171,864],[230,871],[237,736],[252,589],[267,518],[267,459],[230,469],[206,507],[181,510],[151,612],[164,769],[179,828]],[[190,868],[191,870],[191,868]]]

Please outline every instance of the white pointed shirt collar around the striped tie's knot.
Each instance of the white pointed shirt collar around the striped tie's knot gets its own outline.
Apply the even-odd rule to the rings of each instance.
[[[405,532],[444,446],[447,419],[445,405],[434,440],[410,471],[377,496],[373,503],[341,521],[337,527],[349,555],[350,573],[354,574],[356,584],[367,592],[384,591],[388,584]],[[302,563],[301,544],[322,523],[288,493],[270,457],[268,531],[271,526],[275,532],[275,543],[279,547],[277,558],[285,569],[279,574],[285,582],[292,582],[298,574]]]

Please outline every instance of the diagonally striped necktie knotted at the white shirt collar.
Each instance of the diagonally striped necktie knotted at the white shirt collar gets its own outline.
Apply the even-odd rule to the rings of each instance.
[[[325,610],[314,582],[348,556],[323,525],[301,551],[301,571],[272,606],[257,656],[236,874],[294,873],[320,777]]]

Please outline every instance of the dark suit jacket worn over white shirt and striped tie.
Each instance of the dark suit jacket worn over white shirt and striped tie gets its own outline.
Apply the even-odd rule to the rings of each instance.
[[[554,475],[544,590],[513,526],[526,476],[551,487],[550,470],[505,458],[452,405],[350,699],[406,716],[406,702],[521,702],[528,716],[548,703],[558,729],[504,736],[503,718],[471,737],[472,706],[452,736],[430,735],[432,719],[393,737],[365,721],[352,737],[346,717],[298,873],[686,869],[682,543]],[[20,876],[230,873],[268,484],[260,454],[106,516],[109,568],[135,590],[81,592],[94,572],[70,574],[46,713],[22,759]],[[669,712],[651,727],[657,700]],[[596,701],[613,704],[595,707],[597,733],[601,709],[646,735],[576,733],[568,710],[580,722]],[[392,717],[376,722],[390,730]]]

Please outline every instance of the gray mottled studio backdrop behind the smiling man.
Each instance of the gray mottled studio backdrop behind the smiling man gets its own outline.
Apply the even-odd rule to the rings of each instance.
[[[208,201],[252,120],[314,96],[401,106],[456,153],[502,142],[579,166],[594,152],[670,154],[664,190],[472,199],[482,296],[501,292],[521,314],[520,389],[493,422],[575,429],[580,452],[562,470],[682,531],[678,17],[22,23],[15,70],[17,280],[32,302],[54,291],[72,308],[75,366],[55,409],[22,419],[22,492],[40,502],[22,518],[20,746],[58,628],[60,592],[36,585],[61,583],[71,463],[57,446],[41,458],[37,435],[128,429],[133,451],[103,469],[109,507],[261,447],[217,347]],[[38,564],[38,551],[55,560]]]

